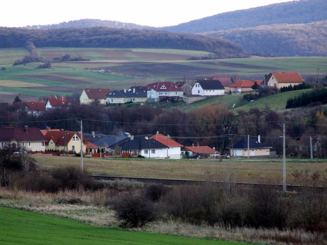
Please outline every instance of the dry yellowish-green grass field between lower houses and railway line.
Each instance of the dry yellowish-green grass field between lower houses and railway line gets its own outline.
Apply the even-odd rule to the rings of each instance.
[[[35,155],[42,168],[78,166],[78,157]],[[154,160],[154,159],[90,159],[84,167],[91,174],[188,180],[237,181],[249,183],[282,183],[282,160]],[[294,181],[295,170],[327,173],[327,162],[288,160],[287,184]]]

